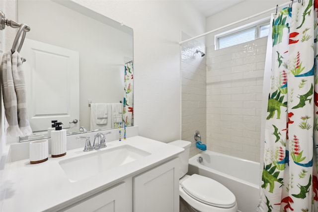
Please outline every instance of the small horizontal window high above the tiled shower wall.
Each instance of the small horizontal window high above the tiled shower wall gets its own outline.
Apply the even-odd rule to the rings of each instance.
[[[268,35],[269,19],[253,22],[215,36],[215,49],[223,49]]]

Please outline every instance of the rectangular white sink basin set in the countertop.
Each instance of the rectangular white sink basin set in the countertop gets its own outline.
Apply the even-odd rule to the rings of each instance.
[[[128,144],[93,151],[94,152],[89,154],[61,160],[59,162],[71,182],[86,179],[151,154]]]

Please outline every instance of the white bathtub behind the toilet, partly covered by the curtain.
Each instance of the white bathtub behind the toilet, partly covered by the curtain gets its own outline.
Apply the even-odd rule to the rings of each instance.
[[[201,163],[198,161],[200,156],[203,158]],[[200,174],[220,182],[235,195],[239,212],[256,212],[259,163],[206,150],[189,159],[188,174]]]

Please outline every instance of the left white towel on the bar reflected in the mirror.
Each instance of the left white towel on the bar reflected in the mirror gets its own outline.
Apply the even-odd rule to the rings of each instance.
[[[111,120],[111,104],[107,104],[107,122],[106,124],[97,124],[97,120],[98,123],[102,123],[101,121],[105,122],[105,119],[97,119],[97,104],[103,104],[103,103],[91,103],[90,104],[90,131],[93,130],[105,130],[105,129],[111,129],[111,121],[108,121],[108,119]],[[108,112],[109,111],[109,112]],[[99,116],[100,118],[102,116]],[[104,115],[105,118],[105,115]]]

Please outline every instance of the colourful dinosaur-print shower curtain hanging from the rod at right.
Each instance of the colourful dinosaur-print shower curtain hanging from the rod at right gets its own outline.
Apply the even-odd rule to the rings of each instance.
[[[318,212],[316,4],[294,2],[272,15],[260,212]]]

